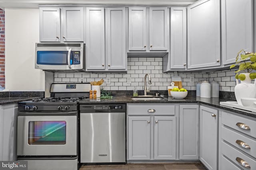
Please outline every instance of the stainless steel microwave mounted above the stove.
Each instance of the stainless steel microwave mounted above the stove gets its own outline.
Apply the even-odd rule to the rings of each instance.
[[[48,71],[85,71],[85,44],[36,43],[35,68]]]

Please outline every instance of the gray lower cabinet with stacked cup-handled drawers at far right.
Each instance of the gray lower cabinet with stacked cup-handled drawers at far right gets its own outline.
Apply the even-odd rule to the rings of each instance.
[[[256,169],[256,119],[220,111],[219,169]]]

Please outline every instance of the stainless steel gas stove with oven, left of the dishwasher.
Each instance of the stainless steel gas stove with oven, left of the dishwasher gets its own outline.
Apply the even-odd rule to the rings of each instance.
[[[90,89],[90,83],[52,84],[52,98],[19,102],[17,156],[28,170],[78,169],[78,101]]]

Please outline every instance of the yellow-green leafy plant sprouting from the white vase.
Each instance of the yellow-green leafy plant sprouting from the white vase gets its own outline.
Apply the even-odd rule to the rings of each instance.
[[[231,65],[230,69],[235,66],[239,66],[235,71],[236,79],[245,80],[244,74],[238,74],[240,71],[250,73],[251,79],[256,78],[256,72],[252,72],[252,70],[256,70],[256,53],[246,52],[242,49],[237,53],[236,64]]]

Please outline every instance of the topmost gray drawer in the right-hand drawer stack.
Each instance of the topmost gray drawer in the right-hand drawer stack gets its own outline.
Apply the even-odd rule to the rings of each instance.
[[[222,112],[222,123],[246,135],[256,137],[256,121]]]

